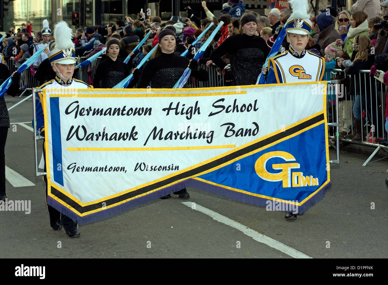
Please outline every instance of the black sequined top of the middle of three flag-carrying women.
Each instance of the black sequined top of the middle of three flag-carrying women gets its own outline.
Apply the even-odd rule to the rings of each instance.
[[[179,56],[175,53],[161,53],[158,57],[150,59],[145,64],[137,87],[173,88],[188,65],[189,59],[187,57]],[[208,72],[202,68],[192,70],[191,74],[199,81],[207,81],[209,79]]]

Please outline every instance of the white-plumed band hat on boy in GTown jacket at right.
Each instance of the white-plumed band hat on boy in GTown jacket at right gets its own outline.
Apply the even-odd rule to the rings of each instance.
[[[292,14],[284,25],[287,33],[309,35],[312,27],[307,0],[289,0]]]

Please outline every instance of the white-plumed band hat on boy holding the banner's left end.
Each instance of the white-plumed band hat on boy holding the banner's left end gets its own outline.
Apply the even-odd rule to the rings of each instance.
[[[55,63],[72,64],[76,63],[73,30],[69,28],[64,21],[58,22],[54,26],[55,48],[52,49],[48,56],[51,65]]]

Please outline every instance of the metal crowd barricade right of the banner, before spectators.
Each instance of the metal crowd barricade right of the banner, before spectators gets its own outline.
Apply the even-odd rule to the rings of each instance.
[[[388,146],[379,144],[376,141],[376,139],[386,141],[384,123],[387,88],[382,82],[374,77],[369,77],[369,70],[361,70],[359,73],[351,76],[344,74],[341,69],[333,69],[330,72],[337,78],[341,75],[342,78],[348,78],[349,82],[355,86],[355,95],[352,96],[348,94],[349,90],[343,84],[338,86],[335,92],[336,95],[341,98],[338,106],[336,106],[339,110],[339,132],[346,131],[346,135],[348,135],[350,133],[355,134],[357,130],[361,134],[362,139],[356,141],[349,138],[341,138],[340,141],[376,147],[376,150],[362,165],[366,166],[371,163],[371,160],[380,149],[383,149],[388,153]],[[333,91],[333,86],[330,86],[330,91]],[[331,101],[332,98],[329,96],[329,85],[327,97],[328,120],[330,120],[329,118],[334,117],[335,113],[332,104],[333,101]],[[357,106],[359,106],[359,108]],[[356,118],[354,117],[355,112],[357,112]],[[357,124],[357,126],[355,126],[355,124]],[[334,135],[336,135],[336,133],[329,128],[329,137],[332,138]]]

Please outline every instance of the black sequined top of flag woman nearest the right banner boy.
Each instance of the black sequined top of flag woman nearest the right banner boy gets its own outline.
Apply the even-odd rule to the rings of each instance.
[[[210,59],[217,66],[224,68],[226,63],[221,57],[227,53],[229,53],[234,85],[256,84],[256,79],[268,55],[265,40],[255,35],[230,36],[211,53]]]

